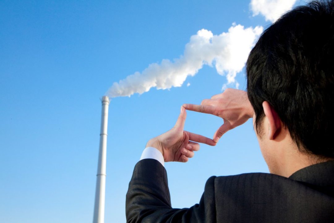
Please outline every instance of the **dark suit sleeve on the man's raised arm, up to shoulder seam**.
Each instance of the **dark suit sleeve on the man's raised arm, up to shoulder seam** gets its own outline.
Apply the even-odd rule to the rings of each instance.
[[[216,222],[214,179],[211,177],[206,182],[199,204],[172,208],[166,169],[155,159],[140,160],[126,195],[127,222]]]

